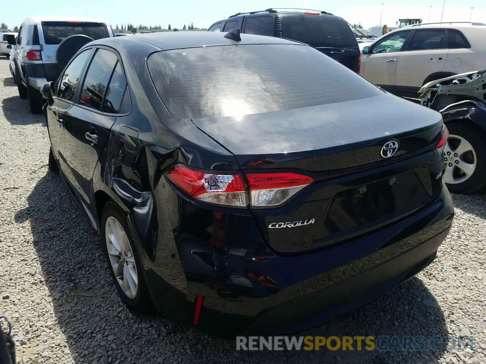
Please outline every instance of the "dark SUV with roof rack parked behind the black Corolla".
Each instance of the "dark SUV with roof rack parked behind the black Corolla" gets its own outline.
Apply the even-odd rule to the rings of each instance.
[[[360,49],[346,20],[325,11],[274,9],[237,13],[213,23],[208,32],[268,35],[302,42],[359,73]]]

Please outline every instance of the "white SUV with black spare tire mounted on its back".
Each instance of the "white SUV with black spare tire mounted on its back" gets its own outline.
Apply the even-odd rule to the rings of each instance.
[[[57,62],[59,43],[74,34],[87,35],[94,40],[115,36],[111,26],[99,19],[31,17],[20,24],[17,45],[10,56],[18,94],[22,99],[29,99],[32,113],[42,113],[45,100],[40,88],[57,80],[62,71],[63,67]]]

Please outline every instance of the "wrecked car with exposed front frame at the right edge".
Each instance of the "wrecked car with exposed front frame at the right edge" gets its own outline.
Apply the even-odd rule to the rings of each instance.
[[[420,104],[442,114],[449,129],[443,180],[452,193],[486,185],[486,69],[427,83]]]

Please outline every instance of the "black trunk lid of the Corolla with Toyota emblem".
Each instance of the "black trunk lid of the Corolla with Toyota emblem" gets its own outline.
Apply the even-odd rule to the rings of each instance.
[[[433,150],[441,116],[390,94],[193,122],[235,155],[243,174],[295,172],[314,180],[281,206],[252,208],[278,252],[341,242],[411,214],[440,194],[442,164]],[[391,140],[397,151],[383,158]]]

